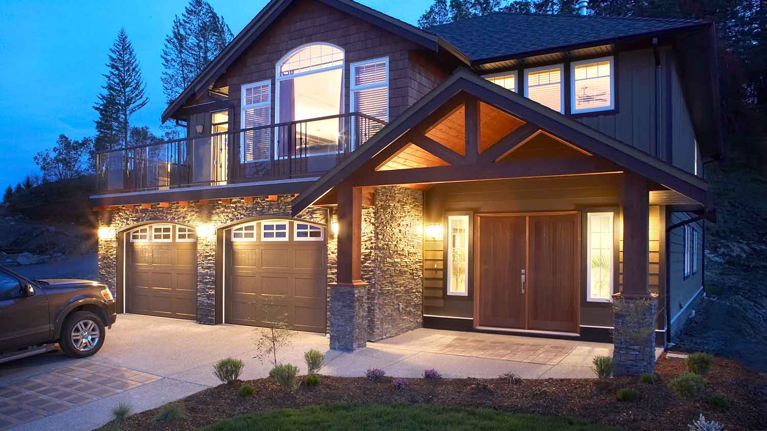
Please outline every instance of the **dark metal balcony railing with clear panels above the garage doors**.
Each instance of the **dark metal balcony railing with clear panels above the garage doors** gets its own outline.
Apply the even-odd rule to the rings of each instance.
[[[104,150],[96,155],[97,193],[316,177],[385,125],[347,113]]]

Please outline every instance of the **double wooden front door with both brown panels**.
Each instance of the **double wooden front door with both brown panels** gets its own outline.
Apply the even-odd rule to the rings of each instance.
[[[578,332],[578,213],[476,217],[476,326]]]

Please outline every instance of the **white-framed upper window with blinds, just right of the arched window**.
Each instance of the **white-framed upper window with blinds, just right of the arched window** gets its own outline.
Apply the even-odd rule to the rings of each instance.
[[[351,64],[351,112],[389,121],[389,57]],[[352,125],[360,142],[366,141],[383,126],[379,122],[356,119]]]

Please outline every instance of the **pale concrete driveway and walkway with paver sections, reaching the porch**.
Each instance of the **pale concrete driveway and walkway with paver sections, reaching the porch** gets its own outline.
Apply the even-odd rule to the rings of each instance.
[[[245,361],[242,378],[268,375],[270,365],[254,359],[257,328],[198,325],[142,315],[119,315],[104,348],[93,358],[72,360],[45,354],[0,364],[0,429],[90,431],[124,401],[133,412],[158,407],[219,384],[212,364],[221,358]],[[611,344],[418,329],[354,353],[328,350],[324,335],[296,332],[282,362],[305,373],[304,351],[325,353],[322,374],[363,376],[382,368],[393,377],[420,377],[434,367],[445,377],[593,377],[597,354]]]

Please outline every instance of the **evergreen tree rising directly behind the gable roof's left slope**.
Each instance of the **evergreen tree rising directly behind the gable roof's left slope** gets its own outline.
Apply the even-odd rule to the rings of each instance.
[[[213,58],[232,41],[224,18],[205,0],[191,0],[166,35],[163,54],[163,93],[176,99]]]

